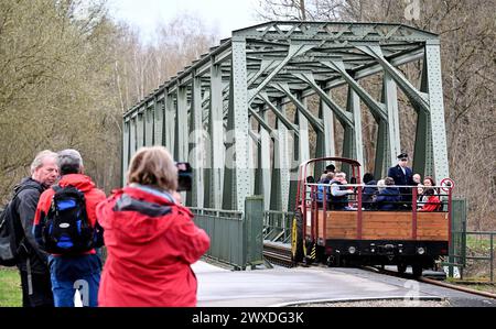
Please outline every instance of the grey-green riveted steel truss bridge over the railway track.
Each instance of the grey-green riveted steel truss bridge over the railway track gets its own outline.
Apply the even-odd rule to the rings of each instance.
[[[398,69],[416,61],[423,61],[419,89]],[[379,100],[359,84],[373,75],[382,76]],[[332,92],[342,86],[346,108]],[[140,146],[165,145],[194,166],[188,206],[242,210],[247,196],[262,194],[266,209],[293,210],[300,162],[337,149],[368,161],[362,105],[378,125],[376,176],[396,163],[398,88],[418,114],[414,171],[439,182],[449,176],[439,37],[377,23],[270,22],[234,31],[125,113],[122,168]],[[310,97],[319,97],[316,112]],[[341,147],[335,122],[344,130]]]

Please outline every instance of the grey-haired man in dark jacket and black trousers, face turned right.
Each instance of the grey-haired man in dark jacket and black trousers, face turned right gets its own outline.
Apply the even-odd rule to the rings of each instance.
[[[31,176],[14,187],[11,209],[19,241],[18,268],[21,274],[22,306],[53,306],[52,285],[47,254],[37,245],[33,235],[33,220],[40,195],[58,178],[57,154],[45,150],[31,164]]]

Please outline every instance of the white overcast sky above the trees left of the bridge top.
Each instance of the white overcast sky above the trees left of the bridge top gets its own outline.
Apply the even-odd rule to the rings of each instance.
[[[150,41],[159,22],[169,22],[187,12],[201,18],[220,39],[233,30],[259,23],[258,0],[109,0],[110,14],[136,25],[143,41]]]

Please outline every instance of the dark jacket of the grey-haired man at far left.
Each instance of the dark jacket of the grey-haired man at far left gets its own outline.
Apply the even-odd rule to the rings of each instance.
[[[40,249],[33,235],[34,213],[36,212],[37,200],[45,187],[32,178],[24,178],[14,187],[14,193],[21,188],[23,190],[12,200],[14,221],[18,223],[15,235],[21,241],[18,267],[21,271],[28,271],[26,263],[29,259],[31,272],[47,274],[50,273],[47,254]]]

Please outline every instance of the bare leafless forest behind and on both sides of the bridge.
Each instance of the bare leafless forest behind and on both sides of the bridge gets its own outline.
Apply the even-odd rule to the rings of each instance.
[[[414,19],[411,3],[420,6]],[[258,0],[265,21],[393,22],[440,34],[450,171],[476,230],[496,229],[495,8],[496,0]],[[0,205],[44,149],[77,149],[99,187],[119,186],[122,112],[218,43],[187,13],[143,44],[105,0],[0,0]],[[402,67],[412,81],[420,69]],[[379,80],[363,84],[378,96]],[[399,95],[401,146],[413,150],[416,118]],[[363,125],[374,141],[365,109]]]

